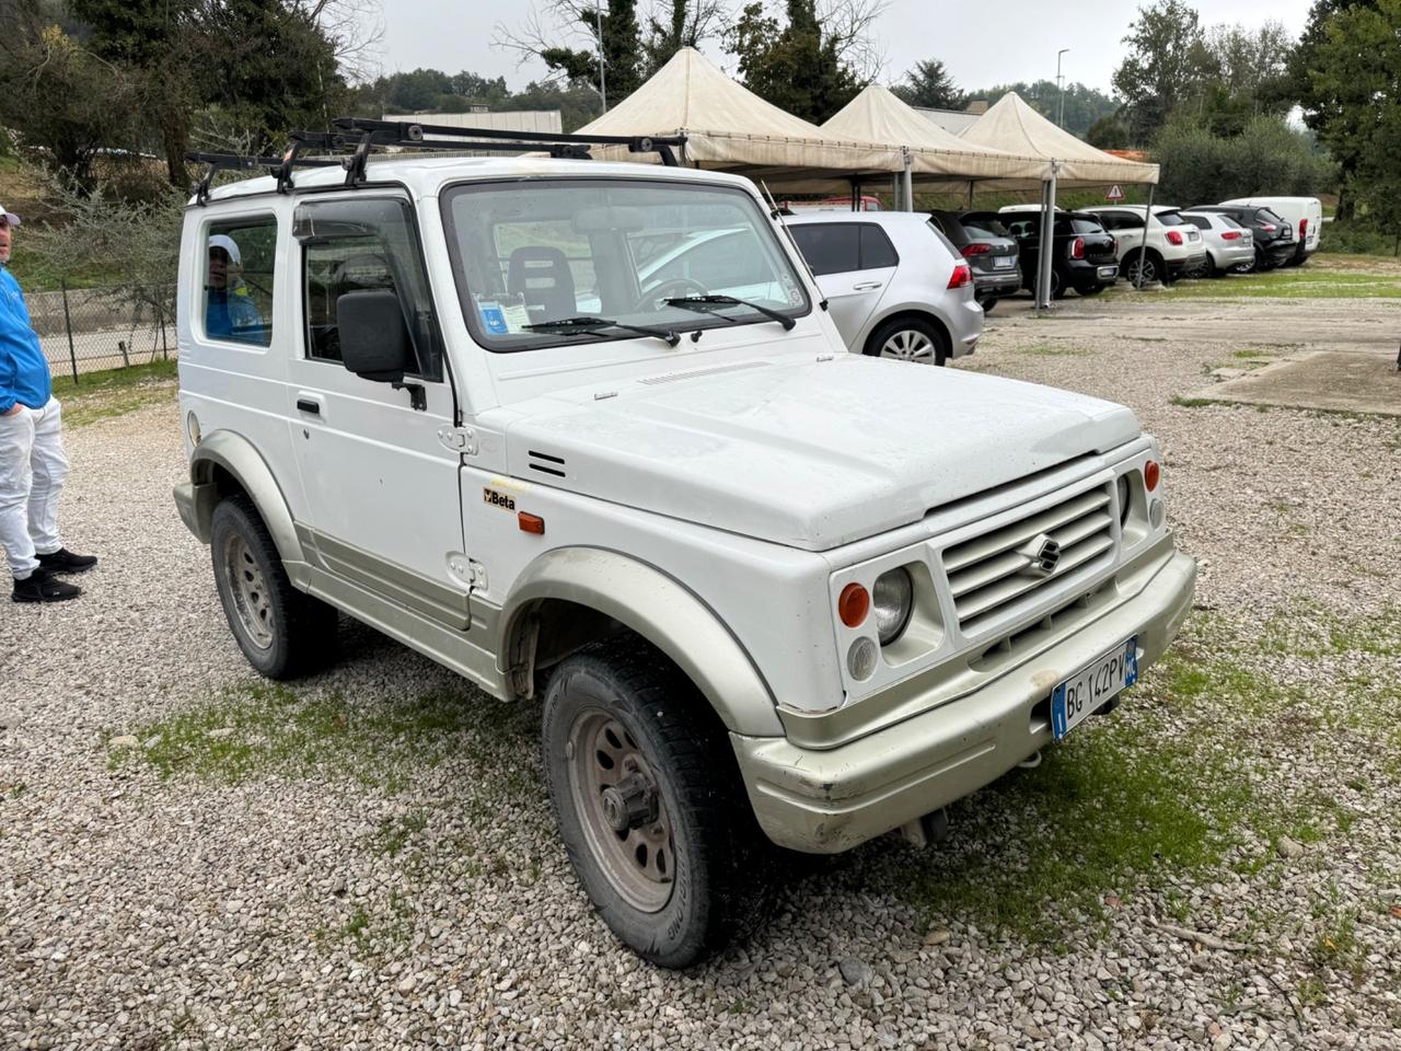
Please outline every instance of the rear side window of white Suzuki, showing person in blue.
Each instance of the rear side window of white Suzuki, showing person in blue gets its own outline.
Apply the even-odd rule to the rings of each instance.
[[[272,345],[277,220],[272,216],[209,224],[205,261],[205,335]]]

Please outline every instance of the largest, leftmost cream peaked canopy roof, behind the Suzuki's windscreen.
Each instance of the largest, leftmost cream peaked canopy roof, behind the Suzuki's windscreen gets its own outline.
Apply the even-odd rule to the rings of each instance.
[[[700,52],[682,48],[628,98],[579,129],[580,135],[685,135],[685,163],[733,171],[789,192],[850,186],[850,177],[904,171],[899,144],[846,142],[765,102],[730,80]],[[622,147],[609,160],[646,160]]]

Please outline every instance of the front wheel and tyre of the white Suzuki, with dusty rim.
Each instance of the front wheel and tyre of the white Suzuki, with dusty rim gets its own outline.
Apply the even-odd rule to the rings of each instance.
[[[604,828],[616,837],[608,841],[597,814],[581,810],[590,797],[602,809],[602,795],[586,795],[591,788],[605,793],[586,768],[600,760],[580,754],[587,744],[576,744],[580,727],[598,719],[621,727],[619,741],[640,755],[656,788],[656,821],[668,830],[671,884],[654,884],[664,902],[649,902],[651,908],[628,901],[619,890],[623,883],[609,874],[628,855],[632,832]],[[563,660],[545,694],[541,753],[574,874],[619,942],[660,967],[689,967],[757,921],[775,883],[775,851],[754,820],[724,726],[664,654],[622,638]]]

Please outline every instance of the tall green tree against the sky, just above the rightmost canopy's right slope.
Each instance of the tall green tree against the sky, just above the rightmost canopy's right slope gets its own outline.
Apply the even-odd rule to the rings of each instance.
[[[1196,11],[1182,0],[1140,7],[1124,43],[1129,53],[1114,71],[1114,90],[1139,142],[1147,142],[1178,107],[1196,99],[1213,70]]]

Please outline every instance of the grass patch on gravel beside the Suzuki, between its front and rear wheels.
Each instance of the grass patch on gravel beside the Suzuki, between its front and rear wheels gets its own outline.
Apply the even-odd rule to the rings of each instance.
[[[394,793],[425,769],[469,760],[483,776],[490,771],[502,790],[539,796],[534,764],[518,762],[521,746],[537,733],[534,713],[465,688],[352,703],[336,691],[303,695],[282,684],[249,682],[129,733],[146,744],[115,750],[112,765],[139,762],[163,781],[238,783],[266,774],[329,774]],[[401,849],[416,820],[381,830],[381,852]]]

